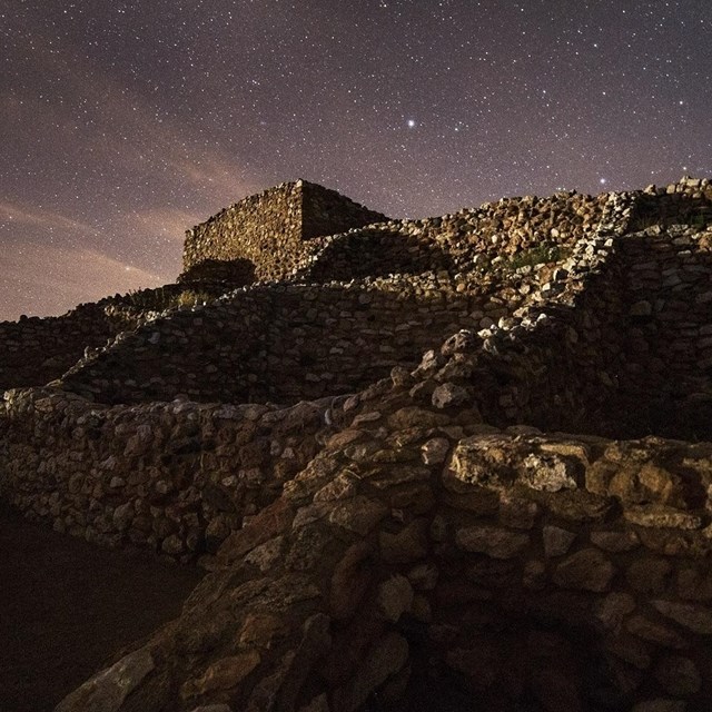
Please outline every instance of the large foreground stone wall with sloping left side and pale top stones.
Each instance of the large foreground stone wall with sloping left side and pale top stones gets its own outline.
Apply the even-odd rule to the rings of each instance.
[[[127,670],[121,710],[705,709],[709,444],[501,432],[387,388],[352,413],[59,710]]]

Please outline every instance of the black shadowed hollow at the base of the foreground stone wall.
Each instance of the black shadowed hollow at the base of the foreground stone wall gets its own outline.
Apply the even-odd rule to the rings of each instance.
[[[507,614],[484,602],[435,616],[431,627],[456,636],[457,643],[451,641],[449,651],[443,651],[427,640],[427,625],[412,622],[411,630],[400,631],[411,647],[403,696],[393,701],[387,694],[372,694],[362,712],[629,712],[632,708],[633,694],[622,689],[591,625]],[[636,683],[644,686],[644,674],[639,678]]]

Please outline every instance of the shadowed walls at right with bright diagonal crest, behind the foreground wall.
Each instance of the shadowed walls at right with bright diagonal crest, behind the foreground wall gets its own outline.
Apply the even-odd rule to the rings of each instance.
[[[474,402],[500,425],[712,437],[712,231],[627,234],[636,199],[613,195],[597,234],[513,318],[428,354],[421,398],[452,392],[453,405]]]

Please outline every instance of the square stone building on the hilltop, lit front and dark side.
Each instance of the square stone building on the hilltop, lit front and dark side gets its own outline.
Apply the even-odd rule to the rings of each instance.
[[[253,263],[257,279],[281,279],[315,248],[310,238],[386,217],[304,180],[249,196],[186,233],[184,273],[206,260]]]

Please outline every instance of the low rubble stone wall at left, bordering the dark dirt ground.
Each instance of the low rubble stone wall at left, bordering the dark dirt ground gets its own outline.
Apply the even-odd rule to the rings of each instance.
[[[108,407],[52,388],[10,390],[0,496],[57,532],[195,560],[314,457],[332,402]]]

